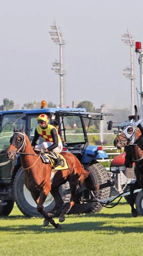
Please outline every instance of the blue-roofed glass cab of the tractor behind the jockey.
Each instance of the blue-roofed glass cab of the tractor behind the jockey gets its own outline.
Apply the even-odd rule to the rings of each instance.
[[[0,183],[11,183],[13,170],[19,163],[17,156],[15,163],[7,159],[6,150],[13,129],[22,129],[32,142],[34,131],[37,126],[37,116],[40,113],[47,114],[49,123],[58,124],[58,133],[63,139],[63,150],[74,154],[81,163],[89,163],[91,158],[107,158],[107,154],[98,146],[88,144],[88,133],[106,113],[89,113],[84,108],[43,108],[30,110],[8,110],[0,112]],[[92,128],[93,129],[93,128]],[[92,133],[95,130],[92,130]],[[43,141],[39,137],[37,144]],[[92,160],[93,160],[92,159]]]

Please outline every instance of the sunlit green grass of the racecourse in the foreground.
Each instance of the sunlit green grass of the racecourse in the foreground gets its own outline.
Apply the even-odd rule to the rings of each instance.
[[[43,228],[42,218],[26,218],[14,206],[0,218],[0,255],[143,255],[142,221],[131,217],[122,200],[96,214],[68,215],[56,230]]]

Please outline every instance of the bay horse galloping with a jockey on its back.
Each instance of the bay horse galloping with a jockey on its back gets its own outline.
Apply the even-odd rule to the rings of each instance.
[[[7,149],[9,159],[13,159],[17,154],[20,154],[20,162],[24,170],[24,184],[31,192],[32,198],[37,204],[37,211],[44,217],[44,226],[51,223],[55,228],[61,228],[59,223],[56,224],[52,218],[56,216],[58,210],[61,209],[59,222],[64,221],[64,215],[75,203],[76,186],[78,184],[84,183],[86,188],[92,191],[112,186],[109,181],[100,185],[94,184],[89,171],[84,170],[79,160],[68,152],[60,153],[65,158],[68,169],[54,171],[51,183],[51,164],[42,163],[40,155],[35,154],[23,129],[14,131],[10,138],[10,146]],[[70,202],[62,209],[63,200],[59,194],[59,186],[66,181],[69,182],[71,197]],[[43,203],[49,192],[55,200],[55,207],[50,213],[46,213],[43,208]]]

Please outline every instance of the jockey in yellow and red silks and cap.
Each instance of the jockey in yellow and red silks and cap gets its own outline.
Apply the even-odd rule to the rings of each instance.
[[[31,146],[39,150],[44,148],[46,149],[46,152],[52,152],[56,156],[57,153],[62,151],[62,142],[57,133],[57,130],[53,125],[48,124],[48,116],[46,114],[40,114],[36,119],[38,126],[35,129]],[[39,136],[42,137],[45,142],[36,145]],[[55,167],[60,164],[60,160],[57,156],[56,159],[54,158],[54,164]]]

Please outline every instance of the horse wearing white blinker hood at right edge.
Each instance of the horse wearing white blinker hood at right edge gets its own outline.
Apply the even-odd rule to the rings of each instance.
[[[136,181],[134,184],[130,185],[130,206],[131,213],[133,217],[137,216],[137,211],[134,208],[134,197],[133,191],[135,189],[142,189],[143,191],[143,137],[141,135],[140,129],[137,127],[141,120],[136,122],[130,122],[122,132],[117,135],[114,140],[114,146],[118,149],[125,147],[125,162],[135,163],[135,176]],[[129,159],[128,159],[129,158]]]

